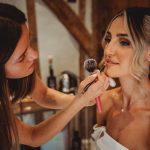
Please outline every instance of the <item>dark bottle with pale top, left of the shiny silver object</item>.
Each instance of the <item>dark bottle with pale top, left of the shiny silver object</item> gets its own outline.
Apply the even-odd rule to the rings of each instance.
[[[48,62],[49,62],[49,76],[47,78],[47,86],[56,89],[57,88],[57,83],[56,83],[56,77],[54,75],[54,70],[53,70],[53,58],[52,56],[48,57]]]

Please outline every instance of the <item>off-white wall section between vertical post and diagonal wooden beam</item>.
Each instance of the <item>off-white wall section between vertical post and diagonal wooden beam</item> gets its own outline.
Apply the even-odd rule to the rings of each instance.
[[[79,74],[77,42],[41,0],[36,1],[36,12],[40,64],[44,81],[48,75],[48,55],[53,56],[56,76],[63,70]]]

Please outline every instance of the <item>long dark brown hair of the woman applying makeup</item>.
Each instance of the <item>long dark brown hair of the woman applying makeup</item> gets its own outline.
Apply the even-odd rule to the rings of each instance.
[[[27,96],[35,83],[35,72],[20,79],[7,79],[5,63],[21,37],[26,18],[16,7],[0,3],[0,149],[18,150],[19,139],[12,102]]]

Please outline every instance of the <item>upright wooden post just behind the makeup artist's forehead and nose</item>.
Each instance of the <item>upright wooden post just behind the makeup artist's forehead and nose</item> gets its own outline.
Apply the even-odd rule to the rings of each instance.
[[[35,13],[35,0],[26,0],[27,17],[30,29],[30,44],[38,51],[37,28],[36,28],[36,13]],[[40,76],[39,60],[37,60],[36,71]]]

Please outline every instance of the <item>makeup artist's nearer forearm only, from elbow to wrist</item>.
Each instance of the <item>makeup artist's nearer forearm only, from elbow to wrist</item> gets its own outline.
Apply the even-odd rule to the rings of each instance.
[[[83,107],[83,104],[74,101],[66,109],[58,112],[49,119],[36,125],[32,129],[32,146],[39,146],[50,140],[54,135],[61,131],[67,123]]]

